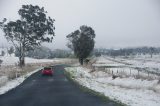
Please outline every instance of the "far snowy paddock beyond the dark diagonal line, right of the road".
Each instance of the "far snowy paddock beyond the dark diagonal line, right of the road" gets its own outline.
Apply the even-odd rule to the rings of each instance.
[[[106,57],[102,56],[102,58],[109,59],[112,61],[117,61],[118,63],[130,64],[132,67],[138,68],[147,68],[150,72],[159,72],[160,73],[160,55],[153,55],[151,58],[150,56],[140,55],[135,57]]]

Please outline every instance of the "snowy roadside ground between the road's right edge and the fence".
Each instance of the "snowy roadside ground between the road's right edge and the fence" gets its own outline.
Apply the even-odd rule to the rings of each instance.
[[[158,80],[134,78],[112,79],[102,71],[89,73],[82,67],[66,68],[79,84],[100,92],[107,97],[131,106],[160,106],[160,84]]]

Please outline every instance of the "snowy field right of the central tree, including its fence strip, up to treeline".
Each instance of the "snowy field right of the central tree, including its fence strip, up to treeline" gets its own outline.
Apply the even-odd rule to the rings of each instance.
[[[117,57],[111,58],[101,56],[97,58],[95,64],[96,70],[105,71],[114,75],[121,75],[122,77],[141,77],[148,79],[160,78],[160,63],[157,62],[157,57],[135,57],[124,58]]]

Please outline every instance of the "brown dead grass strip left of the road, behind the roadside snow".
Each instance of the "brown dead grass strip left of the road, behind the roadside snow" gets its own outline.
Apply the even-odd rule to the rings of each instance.
[[[54,66],[57,64],[75,64],[77,62],[76,59],[63,59],[60,61],[54,61],[54,62],[43,62],[43,63],[31,63],[26,64],[25,67],[20,68],[16,65],[7,65],[7,66],[1,66],[0,67],[0,77],[1,76],[7,76],[9,80],[12,80],[14,78],[20,77],[26,73],[29,73],[39,67],[46,67],[46,66]]]

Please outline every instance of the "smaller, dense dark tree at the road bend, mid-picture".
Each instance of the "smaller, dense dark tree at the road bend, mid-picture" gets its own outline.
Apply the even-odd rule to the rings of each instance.
[[[74,51],[74,54],[79,58],[80,64],[83,65],[83,60],[89,56],[94,48],[94,30],[83,25],[80,30],[67,35],[67,38],[69,40],[67,46]]]

